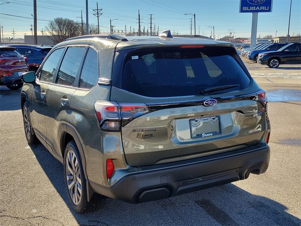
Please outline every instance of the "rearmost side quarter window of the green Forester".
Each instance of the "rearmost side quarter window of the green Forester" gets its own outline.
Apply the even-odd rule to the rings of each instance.
[[[94,49],[89,48],[79,78],[79,88],[91,89],[97,83],[98,78],[98,54]]]

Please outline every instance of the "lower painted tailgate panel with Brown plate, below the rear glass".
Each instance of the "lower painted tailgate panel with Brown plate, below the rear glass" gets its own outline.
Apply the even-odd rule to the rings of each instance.
[[[122,127],[126,160],[153,165],[252,146],[264,135],[264,111],[257,101],[241,100],[150,112]]]

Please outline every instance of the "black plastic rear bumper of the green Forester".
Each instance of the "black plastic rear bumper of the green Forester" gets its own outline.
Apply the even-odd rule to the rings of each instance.
[[[172,164],[133,167],[112,187],[89,181],[101,195],[130,203],[148,202],[246,179],[264,173],[270,160],[266,143]]]

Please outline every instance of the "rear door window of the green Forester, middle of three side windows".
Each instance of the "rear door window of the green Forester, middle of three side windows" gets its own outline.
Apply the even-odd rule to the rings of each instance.
[[[86,53],[86,47],[69,47],[57,74],[57,84],[73,86],[79,67]]]

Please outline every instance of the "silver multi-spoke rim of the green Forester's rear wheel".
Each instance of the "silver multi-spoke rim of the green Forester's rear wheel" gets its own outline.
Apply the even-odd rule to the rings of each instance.
[[[75,205],[78,205],[82,198],[82,180],[76,158],[73,150],[68,150],[66,159],[66,177],[70,197]]]

